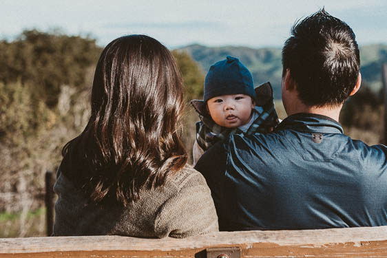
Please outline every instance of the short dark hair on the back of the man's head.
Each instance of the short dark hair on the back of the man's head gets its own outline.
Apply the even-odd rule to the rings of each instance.
[[[282,49],[283,75],[289,68],[297,93],[308,106],[336,106],[351,94],[359,74],[353,30],[322,8],[291,28]]]

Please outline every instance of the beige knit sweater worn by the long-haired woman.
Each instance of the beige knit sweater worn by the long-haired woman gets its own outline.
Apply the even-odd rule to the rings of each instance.
[[[140,200],[122,206],[87,204],[63,174],[54,185],[54,235],[189,237],[218,231],[218,217],[203,176],[186,166],[164,186],[143,187]]]

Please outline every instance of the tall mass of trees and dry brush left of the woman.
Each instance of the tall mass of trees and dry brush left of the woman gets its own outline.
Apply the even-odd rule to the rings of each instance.
[[[0,189],[8,194],[0,195],[0,212],[20,211],[21,191],[28,209],[41,206],[45,171],[85,125],[100,52],[94,39],[59,32],[0,41]]]

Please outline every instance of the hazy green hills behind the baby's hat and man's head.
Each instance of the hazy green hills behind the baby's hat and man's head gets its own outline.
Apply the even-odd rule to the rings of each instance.
[[[274,98],[281,98],[281,50],[279,48],[250,47],[206,47],[204,45],[188,45],[180,51],[188,52],[207,72],[209,66],[220,61],[229,54],[240,58],[253,74],[255,85],[270,81],[274,88]],[[361,72],[363,84],[374,92],[381,88],[381,64],[387,63],[387,45],[366,45],[360,47]]]

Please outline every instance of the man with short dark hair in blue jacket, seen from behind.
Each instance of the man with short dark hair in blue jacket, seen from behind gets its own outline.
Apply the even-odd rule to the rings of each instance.
[[[288,117],[273,133],[230,136],[196,164],[220,230],[386,226],[387,148],[337,122],[362,80],[353,30],[322,9],[293,26],[282,65]]]

